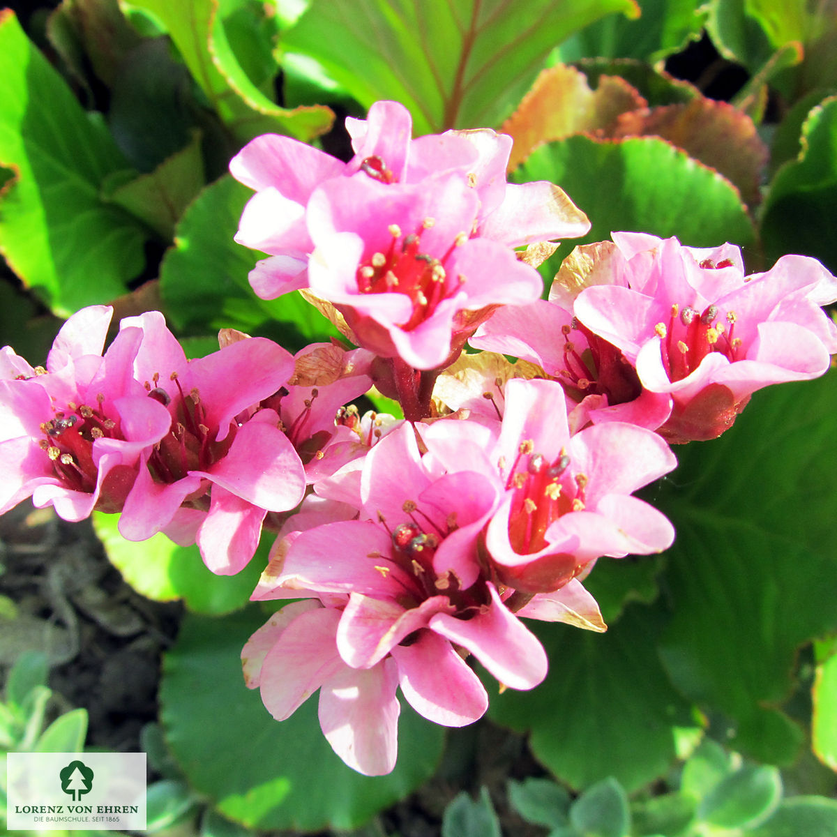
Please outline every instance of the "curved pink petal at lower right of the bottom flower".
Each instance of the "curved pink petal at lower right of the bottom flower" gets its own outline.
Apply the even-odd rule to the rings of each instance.
[[[497,680],[512,689],[531,689],[547,676],[547,654],[537,637],[506,609],[494,585],[485,585],[491,605],[472,619],[436,614],[429,627],[468,649]]]

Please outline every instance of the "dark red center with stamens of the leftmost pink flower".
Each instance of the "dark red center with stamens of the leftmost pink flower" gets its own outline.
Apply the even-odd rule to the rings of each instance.
[[[99,469],[93,461],[96,439],[121,439],[113,419],[102,411],[105,396],[96,396],[96,407],[69,403],[55,418],[41,424],[44,434],[39,444],[53,463],[54,474],[69,489],[91,494],[96,487]]]

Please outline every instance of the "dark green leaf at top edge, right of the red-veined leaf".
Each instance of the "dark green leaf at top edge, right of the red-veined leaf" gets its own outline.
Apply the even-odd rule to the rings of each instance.
[[[697,0],[638,0],[641,14],[634,20],[604,18],[562,44],[564,61],[587,55],[643,59],[654,64],[700,38],[706,9]]]

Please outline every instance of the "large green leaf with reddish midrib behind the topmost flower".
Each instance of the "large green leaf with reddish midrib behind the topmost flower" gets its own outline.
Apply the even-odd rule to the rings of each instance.
[[[603,15],[635,15],[631,0],[314,0],[286,33],[364,107],[393,99],[414,130],[498,126],[549,51]],[[329,33],[323,38],[322,33]]]

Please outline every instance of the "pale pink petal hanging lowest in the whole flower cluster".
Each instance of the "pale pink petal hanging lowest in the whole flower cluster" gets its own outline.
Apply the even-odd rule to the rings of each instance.
[[[372,669],[343,668],[320,690],[320,726],[326,741],[347,765],[365,776],[383,776],[398,756],[395,696],[398,669],[384,660]]]

